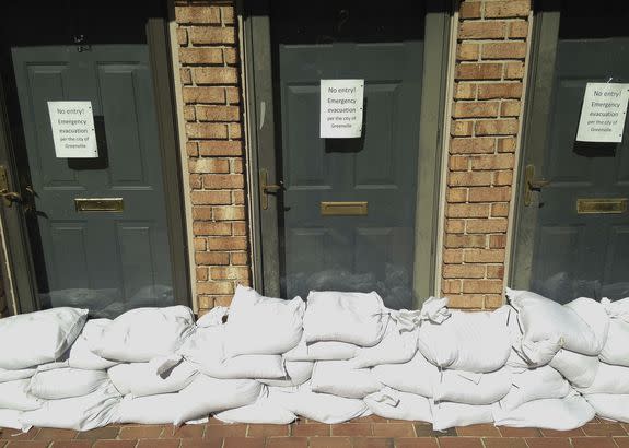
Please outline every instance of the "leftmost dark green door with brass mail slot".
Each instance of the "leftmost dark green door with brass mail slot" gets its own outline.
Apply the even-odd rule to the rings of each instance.
[[[121,43],[11,48],[32,192],[23,207],[43,308],[116,316],[175,302],[149,47],[124,36],[121,28],[109,39]],[[92,103],[97,158],[56,157],[49,101]],[[91,198],[123,210],[78,210],[77,199]]]

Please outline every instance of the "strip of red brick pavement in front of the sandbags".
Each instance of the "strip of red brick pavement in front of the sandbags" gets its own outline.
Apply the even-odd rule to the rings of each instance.
[[[474,425],[435,433],[423,422],[371,416],[340,425],[107,426],[79,433],[3,429],[0,448],[629,448],[629,425],[595,418],[569,432]]]

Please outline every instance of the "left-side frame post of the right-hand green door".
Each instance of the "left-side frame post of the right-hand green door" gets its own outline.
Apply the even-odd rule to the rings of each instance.
[[[513,208],[513,238],[509,263],[508,284],[514,288],[527,290],[533,275],[533,251],[537,231],[536,200],[538,192],[533,192],[533,204],[524,205],[527,185],[525,169],[535,166],[535,177],[544,177],[544,158],[546,155],[547,129],[549,126],[550,103],[555,82],[555,59],[560,21],[560,0],[548,0],[535,11],[532,34],[531,66],[527,78],[527,94],[522,126],[522,146],[517,184]]]

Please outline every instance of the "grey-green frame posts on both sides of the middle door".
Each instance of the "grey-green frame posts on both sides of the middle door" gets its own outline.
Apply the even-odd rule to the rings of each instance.
[[[242,59],[249,161],[247,181],[253,284],[264,294],[278,297],[280,254],[277,200],[269,196],[268,209],[263,211],[259,182],[261,169],[267,170],[269,184],[277,180],[269,0],[241,0],[237,8],[243,17]],[[452,0],[427,1],[417,169],[417,203],[421,203],[422,208],[417,208],[415,221],[416,297],[435,294],[442,134],[445,127],[443,114],[453,11]],[[415,303],[416,307],[420,305],[419,300]]]

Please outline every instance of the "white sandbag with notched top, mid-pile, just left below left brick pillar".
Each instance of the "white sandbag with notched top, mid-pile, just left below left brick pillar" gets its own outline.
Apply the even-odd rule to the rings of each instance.
[[[150,363],[119,364],[107,370],[112,382],[121,394],[135,397],[178,392],[193,382],[197,373],[197,369],[185,361],[162,375],[155,373]]]

